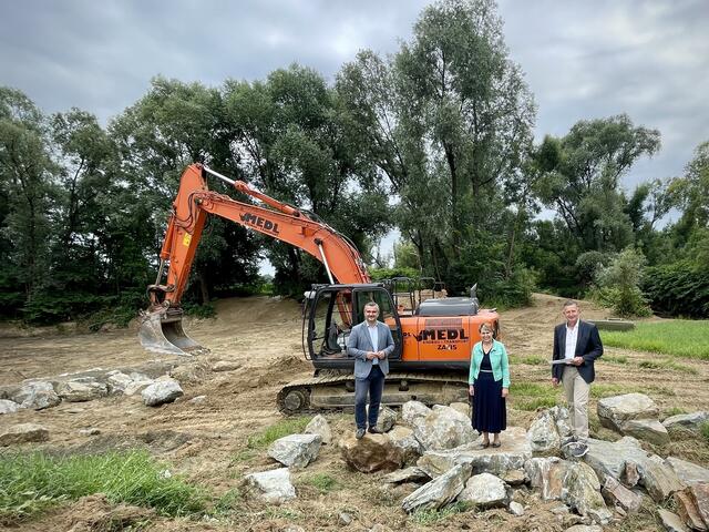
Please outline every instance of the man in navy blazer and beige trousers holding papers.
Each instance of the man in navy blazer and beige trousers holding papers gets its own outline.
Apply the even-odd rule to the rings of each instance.
[[[588,451],[588,395],[590,383],[596,378],[594,360],[603,355],[603,344],[596,326],[579,319],[580,310],[576,301],[564,303],[562,314],[566,323],[554,328],[552,358],[564,362],[552,365],[552,383],[564,385],[573,438],[577,442],[571,453],[580,458]]]

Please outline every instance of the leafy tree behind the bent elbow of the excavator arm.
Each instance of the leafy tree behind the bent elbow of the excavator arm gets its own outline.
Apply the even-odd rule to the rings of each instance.
[[[112,178],[121,188],[121,203],[129,206],[111,228],[119,246],[112,256],[121,257],[133,279],[144,278],[140,272],[156,266],[179,176],[188,164],[205,163],[239,176],[238,154],[232,150],[224,113],[217,89],[155,78],[147,94],[112,122],[111,137],[121,154],[121,165]],[[217,180],[209,186],[227,192]],[[257,275],[254,235],[230,225],[209,219],[195,257],[187,298],[206,303],[215,287],[250,283]],[[152,264],[145,263],[146,254],[154,257]]]

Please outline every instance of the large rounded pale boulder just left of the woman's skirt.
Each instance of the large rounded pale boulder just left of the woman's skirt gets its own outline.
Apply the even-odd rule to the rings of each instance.
[[[427,450],[454,449],[477,438],[466,416],[441,405],[433,407],[423,420],[418,420],[413,436]]]

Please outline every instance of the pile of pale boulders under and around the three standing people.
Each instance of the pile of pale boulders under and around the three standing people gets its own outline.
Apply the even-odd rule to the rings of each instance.
[[[605,403],[624,408],[621,399],[610,399]],[[619,521],[644,503],[659,505],[674,498],[679,515],[664,511],[668,523],[675,519],[682,526],[708,530],[709,470],[649,453],[629,436],[616,442],[590,439],[583,459],[564,457],[561,443],[571,433],[564,407],[540,411],[530,430],[508,427],[501,448],[480,446],[467,405],[428,408],[410,401],[399,416],[382,409],[379,424],[386,433],[368,433],[361,440],[354,438],[353,430],[348,431],[338,441],[339,452],[353,470],[388,472],[381,477],[382,488],[412,485],[413,491],[401,501],[402,510],[409,513],[464,502],[477,511],[504,508],[523,515],[528,509],[515,492],[533,489],[544,501],[559,501],[559,514],[575,512],[575,522],[587,525]],[[321,416],[314,418],[305,432],[271,444],[268,454],[284,467],[248,475],[247,493],[269,503],[297,497],[290,470],[317,460],[321,444],[332,437]]]

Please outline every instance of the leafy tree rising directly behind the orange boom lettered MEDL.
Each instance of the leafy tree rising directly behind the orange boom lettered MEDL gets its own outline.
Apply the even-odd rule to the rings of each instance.
[[[224,100],[245,178],[321,218],[371,259],[373,243],[390,226],[387,196],[347,135],[348,116],[325,79],[294,64],[265,82],[227,81]],[[260,242],[280,291],[300,295],[309,283],[327,279],[319,262],[299,249]]]

